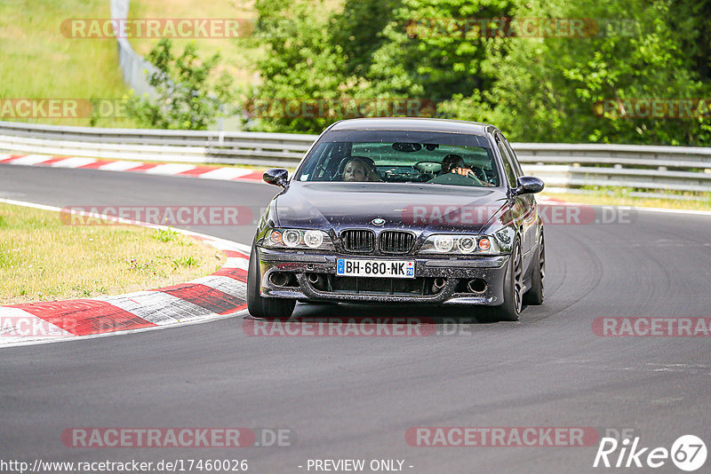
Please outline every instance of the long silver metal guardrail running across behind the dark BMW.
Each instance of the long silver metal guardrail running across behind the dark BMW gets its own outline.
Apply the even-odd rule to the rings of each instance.
[[[316,135],[60,127],[0,122],[0,149],[158,162],[295,166]],[[711,193],[711,148],[513,144],[526,173],[549,188],[612,186]]]

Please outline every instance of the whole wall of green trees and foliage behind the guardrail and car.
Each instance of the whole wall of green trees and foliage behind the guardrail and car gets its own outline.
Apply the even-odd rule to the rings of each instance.
[[[711,0],[258,0],[267,99],[422,98],[513,140],[707,146],[711,113],[639,117],[601,104],[706,99]],[[490,37],[462,19],[586,19],[585,35]],[[413,28],[414,27],[414,28]],[[342,116],[252,122],[318,132]]]

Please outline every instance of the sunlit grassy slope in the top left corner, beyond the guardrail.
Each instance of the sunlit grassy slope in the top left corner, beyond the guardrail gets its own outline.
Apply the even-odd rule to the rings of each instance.
[[[68,38],[62,21],[111,18],[108,0],[0,0],[0,97],[121,99],[128,93],[116,39]],[[135,127],[126,118],[3,120],[76,126]]]

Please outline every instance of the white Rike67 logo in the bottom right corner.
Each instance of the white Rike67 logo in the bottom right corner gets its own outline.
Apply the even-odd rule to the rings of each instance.
[[[642,447],[639,445],[639,439],[624,438],[620,442],[616,438],[602,438],[593,467],[657,469],[671,459],[678,469],[691,472],[706,463],[706,444],[697,436],[680,436],[676,438],[671,449]]]

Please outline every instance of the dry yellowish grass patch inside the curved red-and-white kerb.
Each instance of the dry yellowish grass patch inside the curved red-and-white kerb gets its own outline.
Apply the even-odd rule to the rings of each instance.
[[[173,231],[65,225],[57,212],[0,203],[0,304],[118,295],[213,273],[223,255]]]

